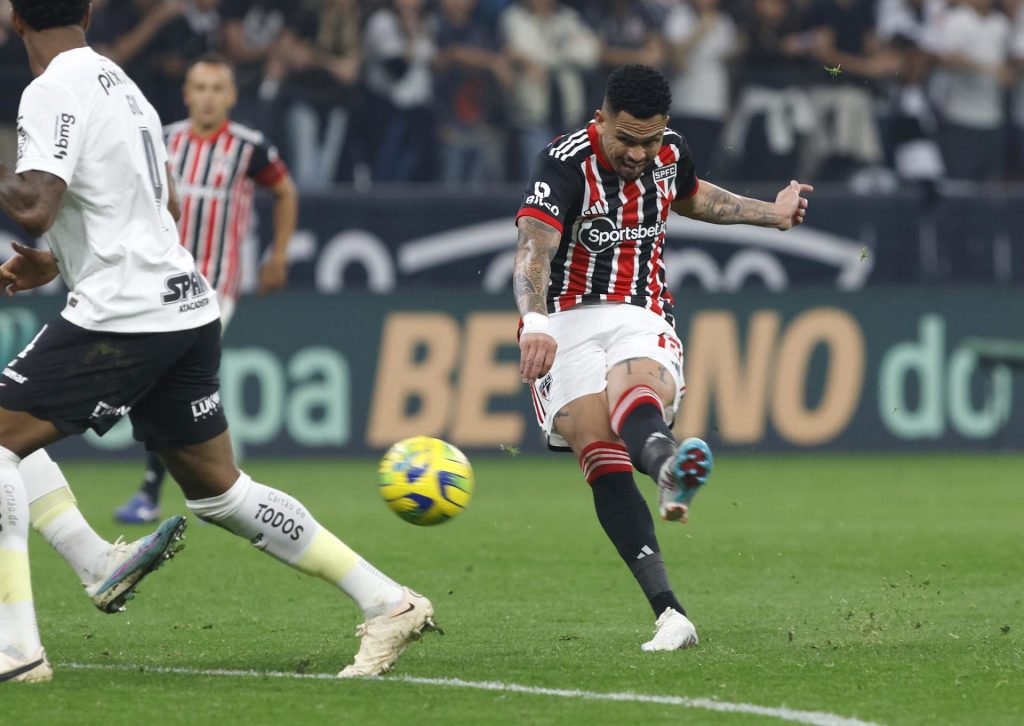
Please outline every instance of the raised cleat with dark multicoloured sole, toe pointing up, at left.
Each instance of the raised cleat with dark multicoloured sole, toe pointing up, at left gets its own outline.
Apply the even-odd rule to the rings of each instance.
[[[103,612],[120,612],[125,602],[135,597],[135,588],[142,578],[176,555],[184,545],[186,521],[182,516],[164,520],[157,531],[141,540],[124,543],[119,538],[106,555],[106,572],[85,592]]]

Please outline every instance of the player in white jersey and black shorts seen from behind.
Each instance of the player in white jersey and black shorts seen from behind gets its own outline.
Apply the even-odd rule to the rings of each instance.
[[[362,609],[359,650],[340,676],[389,670],[433,627],[431,603],[236,466],[218,392],[217,300],[178,241],[157,113],[88,47],[88,0],[12,5],[36,79],[18,110],[16,173],[0,166],[0,209],[52,252],[15,245],[0,288],[12,294],[60,274],[71,292],[0,381],[0,682],[52,677],[32,602],[18,465],[65,436],[102,434],[125,415],[193,512]]]

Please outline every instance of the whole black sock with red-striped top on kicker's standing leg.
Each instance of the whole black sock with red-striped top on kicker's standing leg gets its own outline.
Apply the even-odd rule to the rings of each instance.
[[[597,519],[636,578],[654,616],[669,607],[686,614],[669,585],[669,573],[654,536],[654,519],[633,480],[626,449],[597,441],[583,450],[580,463],[594,495]]]

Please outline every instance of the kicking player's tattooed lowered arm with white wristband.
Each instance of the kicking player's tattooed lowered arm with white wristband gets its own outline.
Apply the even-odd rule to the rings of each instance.
[[[555,339],[548,335],[547,297],[551,260],[558,251],[561,233],[534,217],[520,217],[518,224],[512,291],[522,316],[519,375],[526,383],[532,383],[551,370],[558,348]]]

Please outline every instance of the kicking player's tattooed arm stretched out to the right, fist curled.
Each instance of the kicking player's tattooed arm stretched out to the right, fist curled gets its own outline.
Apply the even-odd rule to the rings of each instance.
[[[778,193],[774,202],[762,202],[701,181],[695,195],[676,200],[672,209],[684,217],[712,224],[755,224],[785,230],[803,223],[807,200],[801,195],[813,190],[810,184],[794,180]]]

